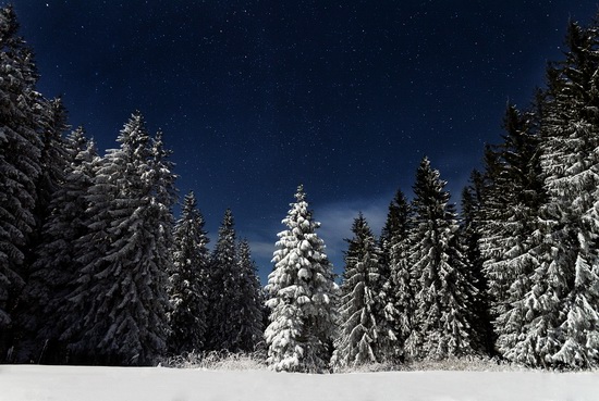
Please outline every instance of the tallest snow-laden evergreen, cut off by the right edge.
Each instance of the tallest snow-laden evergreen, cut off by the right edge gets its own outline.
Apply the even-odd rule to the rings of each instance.
[[[524,297],[523,334],[511,359],[535,366],[588,367],[599,354],[598,25],[572,22],[565,61],[548,70],[541,120],[539,266]]]

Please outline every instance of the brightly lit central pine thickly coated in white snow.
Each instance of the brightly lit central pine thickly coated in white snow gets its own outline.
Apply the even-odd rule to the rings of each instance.
[[[323,241],[316,234],[303,186],[283,220],[268,276],[268,364],[276,371],[322,372],[330,358],[337,285]]]

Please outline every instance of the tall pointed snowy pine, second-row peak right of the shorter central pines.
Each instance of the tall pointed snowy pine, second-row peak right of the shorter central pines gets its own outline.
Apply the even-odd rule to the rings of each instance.
[[[411,233],[416,284],[414,328],[405,350],[413,359],[444,359],[479,352],[473,328],[476,289],[456,238],[455,212],[439,172],[427,158],[416,172]]]

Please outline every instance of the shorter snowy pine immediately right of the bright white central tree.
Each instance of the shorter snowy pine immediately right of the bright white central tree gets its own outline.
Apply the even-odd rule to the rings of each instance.
[[[341,285],[339,326],[334,364],[340,367],[383,362],[392,356],[394,340],[390,324],[379,312],[380,250],[368,223],[362,215],[354,220],[354,237],[349,239],[345,273]]]

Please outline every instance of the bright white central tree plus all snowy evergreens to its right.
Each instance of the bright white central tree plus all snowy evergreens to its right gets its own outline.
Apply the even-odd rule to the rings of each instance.
[[[303,228],[311,215],[300,189],[267,286],[271,366],[599,364],[599,22],[571,22],[565,42],[531,105],[508,105],[461,213],[423,159],[412,201],[398,191],[379,238],[363,215],[354,221],[339,291]]]

